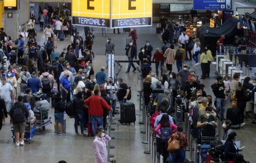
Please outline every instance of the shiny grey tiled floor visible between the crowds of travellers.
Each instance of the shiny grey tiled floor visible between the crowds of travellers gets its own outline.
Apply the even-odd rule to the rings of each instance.
[[[78,30],[83,33],[83,28],[79,27]],[[138,49],[144,46],[147,39],[151,41],[154,49],[161,48],[162,39],[160,35],[155,34],[154,27],[138,28],[137,31],[139,36],[137,41]],[[43,43],[41,34],[42,32],[38,32],[37,40],[39,44]],[[104,51],[107,38],[101,37],[101,29],[94,28],[94,34],[93,50],[96,52],[96,57],[93,65],[94,72],[97,72],[102,65],[106,65]],[[115,44],[115,59],[127,60],[124,50],[127,41],[126,33],[113,34],[112,30],[108,30],[107,35],[112,38]],[[58,41],[58,48],[55,51],[61,52],[69,43],[69,38],[64,41]],[[199,76],[201,75],[201,68],[193,66],[194,62],[188,62],[187,64],[195,69]],[[138,113],[139,101],[137,100],[136,91],[140,87],[136,86],[138,82],[137,73],[130,72],[125,74],[128,64],[122,65],[122,77],[131,86],[131,101],[135,103],[136,113]],[[154,66],[152,68],[154,70]],[[173,65],[173,71],[177,72],[175,65]],[[206,93],[211,95],[213,93],[210,85],[214,81],[214,72],[214,66],[211,66],[211,78],[201,81],[205,84]],[[50,116],[52,117],[52,122],[54,122],[53,109],[50,110]],[[112,125],[112,128],[116,129],[112,131],[112,136],[115,139],[111,141],[115,148],[110,149],[110,153],[115,156],[113,159],[117,160],[117,163],[149,163],[150,155],[143,153],[143,151],[147,150],[147,145],[141,143],[145,139],[145,134],[140,133],[143,130],[143,125],[138,124],[139,121],[142,121],[142,116],[136,116],[136,119],[135,126],[123,126],[119,125],[119,123]],[[9,122],[9,118],[6,121]],[[54,126],[51,124],[46,127],[45,131],[37,132],[37,135],[32,139],[32,144],[26,144],[25,147],[16,147],[12,142],[10,125],[7,123],[0,131],[0,163],[57,163],[59,160],[66,160],[68,163],[94,163],[93,138],[75,136],[73,124],[74,119],[67,118],[66,136],[54,136]],[[246,121],[246,125],[242,129],[235,130],[238,133],[238,139],[242,141],[242,146],[246,146],[241,153],[251,163],[256,160],[256,150],[254,150],[256,144],[255,127],[255,125],[251,125],[249,121]],[[187,153],[187,158],[189,158],[188,155]]]

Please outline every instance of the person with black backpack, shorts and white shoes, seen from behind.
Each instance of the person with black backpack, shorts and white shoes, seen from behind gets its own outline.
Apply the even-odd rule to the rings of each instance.
[[[26,127],[26,119],[29,117],[27,105],[23,104],[23,97],[18,96],[18,102],[15,102],[9,111],[10,117],[13,119],[13,128],[16,136],[16,146],[24,146],[24,135]],[[16,111],[19,109],[20,111]],[[17,113],[18,112],[18,113]],[[20,139],[19,139],[20,138]]]

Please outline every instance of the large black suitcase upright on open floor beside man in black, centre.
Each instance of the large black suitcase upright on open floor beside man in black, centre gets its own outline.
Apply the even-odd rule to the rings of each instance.
[[[120,105],[120,123],[134,123],[136,121],[135,105],[134,103],[128,102]]]

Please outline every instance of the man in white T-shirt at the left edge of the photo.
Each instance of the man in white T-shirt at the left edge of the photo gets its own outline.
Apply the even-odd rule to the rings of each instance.
[[[14,93],[11,84],[6,82],[5,76],[0,77],[2,86],[0,87],[0,96],[4,99],[6,110],[9,113],[11,109],[11,104],[14,103]],[[3,124],[5,124],[5,117],[3,116]]]

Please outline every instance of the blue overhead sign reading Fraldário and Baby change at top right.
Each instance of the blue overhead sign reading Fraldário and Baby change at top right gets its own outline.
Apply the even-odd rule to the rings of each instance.
[[[193,0],[193,10],[232,10],[232,0]]]

